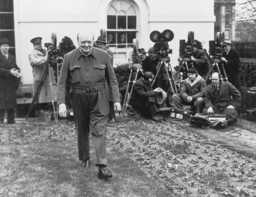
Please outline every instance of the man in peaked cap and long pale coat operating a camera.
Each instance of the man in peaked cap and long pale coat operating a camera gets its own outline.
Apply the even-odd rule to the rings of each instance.
[[[52,67],[50,67],[50,73],[49,73],[49,68],[47,65],[48,55],[47,55],[47,52],[42,48],[42,38],[36,37],[31,39],[30,42],[33,43],[33,46],[34,46],[33,51],[31,51],[28,55],[30,65],[33,68],[32,72],[34,77],[34,80],[33,80],[34,96],[40,81],[42,81],[42,77],[44,73],[48,72],[47,77],[44,81],[44,84],[41,88],[41,91],[38,94],[38,103],[50,103],[52,102],[52,99],[56,101],[56,90],[57,90],[56,84],[57,83],[56,83],[56,79],[55,79]],[[51,89],[50,83],[53,84],[52,89]]]

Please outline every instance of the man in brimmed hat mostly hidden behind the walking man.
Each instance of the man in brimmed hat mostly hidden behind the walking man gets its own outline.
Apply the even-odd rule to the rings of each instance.
[[[113,60],[114,60],[114,54],[113,52],[107,47],[107,42],[106,38],[104,36],[99,36],[98,39],[96,40],[96,44],[98,44],[98,47],[100,49],[103,49],[104,51],[107,51],[108,57],[111,61],[111,64],[113,66]],[[115,115],[115,110],[114,110],[114,103],[113,103],[113,98],[110,95],[108,83],[106,83],[106,90],[108,93],[108,99],[109,99],[109,114],[108,114],[108,122],[116,122],[116,115]]]

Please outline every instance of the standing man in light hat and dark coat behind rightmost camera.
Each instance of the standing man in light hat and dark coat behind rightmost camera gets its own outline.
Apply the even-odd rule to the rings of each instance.
[[[227,73],[228,82],[232,83],[232,85],[240,91],[241,80],[239,73],[239,53],[231,47],[232,45],[233,44],[229,39],[224,40],[224,43],[222,44],[224,53],[221,60]]]

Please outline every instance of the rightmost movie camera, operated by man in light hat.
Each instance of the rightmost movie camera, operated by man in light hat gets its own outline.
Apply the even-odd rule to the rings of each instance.
[[[209,41],[209,51],[210,56],[213,57],[213,62],[221,62],[223,47],[222,44],[225,40],[224,32],[217,32],[216,34],[216,42],[214,40]]]

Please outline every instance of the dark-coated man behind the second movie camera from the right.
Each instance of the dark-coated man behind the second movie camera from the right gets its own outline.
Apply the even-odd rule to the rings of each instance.
[[[198,49],[198,47],[196,41],[194,41],[192,56],[190,58],[198,74],[205,78],[209,71],[210,63],[206,53],[203,50]]]

